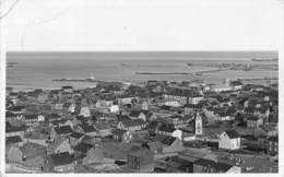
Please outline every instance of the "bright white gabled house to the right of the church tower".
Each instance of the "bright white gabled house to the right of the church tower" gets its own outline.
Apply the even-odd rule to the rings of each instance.
[[[240,149],[240,137],[235,130],[226,130],[218,137],[218,148],[225,150]]]

